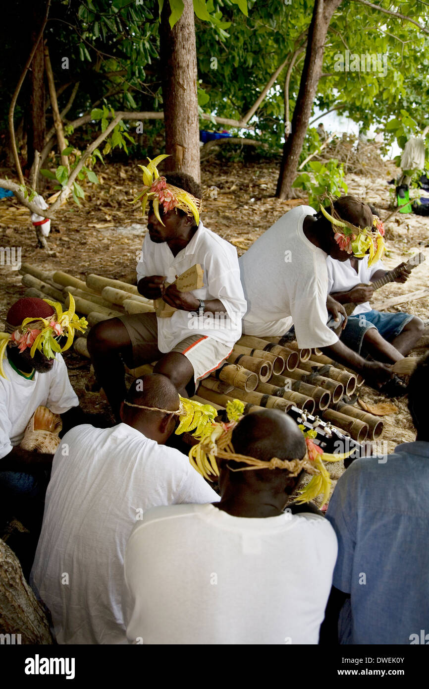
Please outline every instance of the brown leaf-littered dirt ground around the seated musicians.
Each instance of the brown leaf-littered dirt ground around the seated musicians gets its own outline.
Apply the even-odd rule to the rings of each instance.
[[[61,209],[52,223],[48,238],[54,255],[36,247],[36,235],[30,223],[30,213],[10,198],[0,200],[0,246],[21,247],[21,262],[32,263],[43,270],[61,269],[79,278],[87,273],[131,281],[135,277],[136,254],[141,249],[146,232],[145,218],[138,204],[130,202],[142,185],[136,164],[125,167],[109,165],[101,172],[100,185],[87,185],[86,198],[77,207],[72,201]],[[397,172],[397,171],[396,171]],[[385,218],[390,212],[388,180],[395,176],[395,167],[381,165],[373,176],[349,174],[348,193],[373,203]],[[202,166],[202,182],[218,187],[218,197],[207,199],[202,220],[207,227],[229,240],[242,254],[258,236],[286,211],[307,203],[302,198],[280,201],[274,198],[278,177],[277,163],[219,163],[208,161]],[[421,243],[429,245],[429,218],[413,214],[396,214],[385,225],[388,251],[385,258],[390,269],[415,253]],[[406,285],[392,283],[381,288],[374,305],[381,307],[385,298],[422,289],[428,284],[428,267],[419,265],[412,271]],[[0,265],[0,328],[10,304],[22,296],[25,287],[17,270]],[[391,311],[407,311],[423,320],[429,318],[429,298],[421,298],[393,307]],[[414,353],[426,351],[423,337],[421,347]],[[81,399],[85,411],[107,413],[107,403],[91,391],[94,382],[90,363],[74,351],[65,354],[70,380]],[[375,391],[362,388],[366,402],[384,401]],[[385,418],[383,440],[391,451],[399,442],[415,439],[415,431],[406,408],[406,399],[395,400],[398,412]]]

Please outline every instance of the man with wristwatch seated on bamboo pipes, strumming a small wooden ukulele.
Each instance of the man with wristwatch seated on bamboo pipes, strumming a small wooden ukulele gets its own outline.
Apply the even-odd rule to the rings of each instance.
[[[138,291],[148,299],[163,298],[177,310],[169,318],[155,313],[121,316],[91,329],[88,350],[116,417],[125,395],[122,360],[129,367],[156,361],[156,373],[170,378],[181,395],[190,384],[193,394],[194,384],[231,353],[246,310],[237,250],[202,225],[196,207],[201,204],[200,185],[187,174],[171,173],[156,178],[150,189]],[[178,291],[172,283],[196,264],[204,271],[204,286]]]

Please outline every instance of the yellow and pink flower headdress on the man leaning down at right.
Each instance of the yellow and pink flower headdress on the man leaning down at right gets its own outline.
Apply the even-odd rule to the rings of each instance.
[[[381,220],[377,216],[373,216],[372,227],[357,227],[348,220],[340,218],[339,213],[334,208],[333,202],[335,198],[329,194],[322,196],[328,198],[331,205],[331,214],[320,204],[322,214],[329,220],[335,232],[335,241],[340,249],[347,251],[348,254],[354,254],[357,258],[363,258],[369,249],[368,266],[377,263],[377,260],[383,255],[385,248],[384,244],[384,227]]]

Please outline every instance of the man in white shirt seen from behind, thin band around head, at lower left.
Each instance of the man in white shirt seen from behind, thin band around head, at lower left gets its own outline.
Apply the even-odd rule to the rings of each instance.
[[[63,437],[31,577],[59,644],[125,644],[123,556],[134,524],[154,506],[218,500],[188,457],[165,446],[178,408],[168,378],[143,376],[121,405],[122,423]]]

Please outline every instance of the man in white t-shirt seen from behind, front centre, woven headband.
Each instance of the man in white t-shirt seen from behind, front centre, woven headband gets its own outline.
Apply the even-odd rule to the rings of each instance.
[[[231,442],[267,464],[306,453],[297,424],[275,409],[245,416]],[[134,527],[124,564],[129,643],[317,644],[337,540],[314,506],[283,512],[302,472],[218,466],[220,502],[158,507]]]

